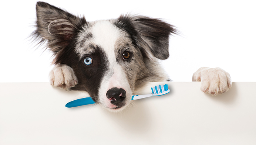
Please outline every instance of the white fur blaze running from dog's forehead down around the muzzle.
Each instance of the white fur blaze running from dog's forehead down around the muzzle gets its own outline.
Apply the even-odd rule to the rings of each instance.
[[[118,40],[124,36],[124,32],[117,29],[110,21],[98,21],[95,23],[91,30],[93,34],[93,42],[99,45],[107,55],[109,66],[107,73],[103,77],[100,89],[99,89],[99,100],[102,106],[105,108],[115,108],[117,106],[110,103],[106,93],[113,87],[122,88],[126,92],[126,104],[131,100],[132,91],[129,86],[129,81],[122,69],[122,66],[117,63],[116,60],[116,44]],[[120,110],[125,107],[120,108]]]

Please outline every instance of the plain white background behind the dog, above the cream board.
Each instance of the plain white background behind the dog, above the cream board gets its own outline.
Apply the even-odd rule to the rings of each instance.
[[[163,18],[180,35],[170,38],[162,65],[174,81],[190,82],[202,66],[220,67],[233,82],[256,82],[256,8],[253,0],[51,0],[87,21],[142,14]],[[0,82],[48,82],[51,54],[27,38],[34,31],[36,0],[1,2]]]

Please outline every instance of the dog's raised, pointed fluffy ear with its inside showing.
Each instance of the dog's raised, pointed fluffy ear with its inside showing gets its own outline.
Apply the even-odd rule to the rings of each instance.
[[[67,11],[38,1],[36,4],[37,30],[33,32],[35,39],[41,44],[47,40],[47,47],[57,53],[73,38],[82,24],[86,24],[84,17],[76,17]]]

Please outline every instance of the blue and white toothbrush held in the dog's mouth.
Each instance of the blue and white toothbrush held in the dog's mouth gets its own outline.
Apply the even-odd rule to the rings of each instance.
[[[151,90],[152,90],[151,94],[133,95],[132,100],[138,100],[138,99],[152,97],[152,96],[162,96],[170,92],[170,90],[168,89],[168,84],[151,87]],[[71,108],[71,107],[83,106],[83,105],[94,104],[94,103],[95,102],[91,99],[91,97],[86,97],[86,98],[70,101],[65,105],[65,107]]]

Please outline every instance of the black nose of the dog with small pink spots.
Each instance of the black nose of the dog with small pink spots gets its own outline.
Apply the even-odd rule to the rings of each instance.
[[[111,103],[114,105],[117,105],[124,101],[126,92],[124,89],[120,88],[118,89],[117,87],[113,87],[112,89],[109,89],[107,92],[107,98],[110,99]]]

